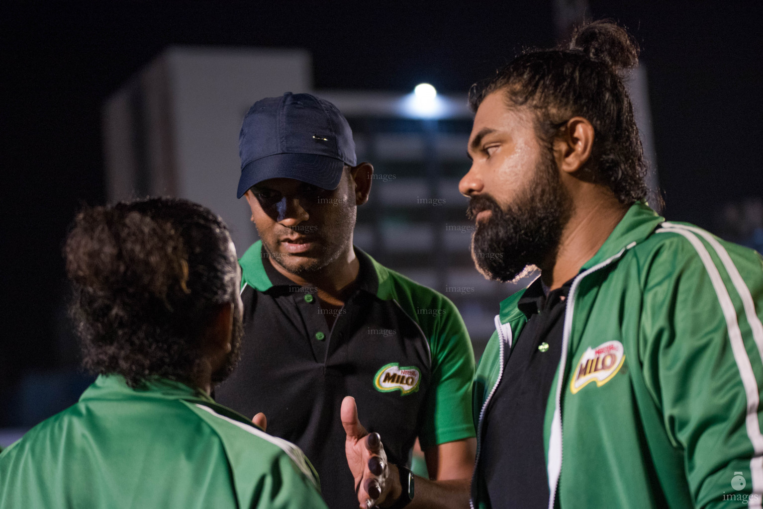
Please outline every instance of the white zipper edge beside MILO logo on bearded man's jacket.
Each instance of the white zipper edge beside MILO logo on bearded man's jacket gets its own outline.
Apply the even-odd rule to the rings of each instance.
[[[575,310],[575,293],[577,293],[580,282],[584,277],[611,264],[613,261],[623,256],[623,253],[626,250],[633,248],[634,245],[636,245],[636,242],[631,242],[625,248],[621,249],[617,255],[613,255],[612,257],[602,261],[600,264],[594,265],[594,267],[591,267],[588,269],[588,271],[579,274],[578,277],[575,277],[575,280],[572,281],[572,286],[570,287],[569,296],[567,299],[567,309],[565,310],[565,326],[562,335],[562,356],[559,359],[559,373],[556,377],[556,408],[554,409],[554,418],[551,421],[551,437],[549,438],[549,463],[546,465],[546,469],[549,475],[549,509],[554,509],[554,504],[556,501],[556,490],[559,488],[559,476],[562,474],[562,387],[566,385],[564,381],[564,374],[567,366],[567,349],[569,338],[572,333],[572,313]],[[555,439],[559,440],[558,445],[555,444]],[[556,447],[558,449],[558,463],[555,462],[555,458],[552,457],[552,447]],[[553,472],[552,462],[554,462]]]

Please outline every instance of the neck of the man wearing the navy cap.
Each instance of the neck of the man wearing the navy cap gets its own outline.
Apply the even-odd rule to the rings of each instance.
[[[343,305],[346,290],[352,286],[360,271],[360,262],[355,255],[352,238],[342,255],[320,271],[299,275],[291,274],[281,265],[273,263],[272,258],[270,258],[270,263],[276,271],[301,287],[315,287],[319,299],[336,306]]]

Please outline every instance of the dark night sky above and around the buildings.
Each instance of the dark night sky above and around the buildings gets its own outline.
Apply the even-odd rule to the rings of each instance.
[[[310,50],[315,87],[463,94],[525,45],[554,43],[552,2],[4,2],[0,391],[53,367],[60,247],[105,200],[101,102],[170,43]],[[305,7],[310,5],[310,7]],[[713,226],[763,196],[761,2],[591,2],[632,31],[649,70],[670,219]]]

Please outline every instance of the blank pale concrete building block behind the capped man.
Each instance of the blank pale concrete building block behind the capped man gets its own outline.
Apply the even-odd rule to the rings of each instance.
[[[230,228],[240,254],[256,240],[250,210],[237,200],[241,121],[259,99],[312,88],[305,50],[172,46],[106,101],[103,113],[108,200],[136,197],[136,119],[142,94],[149,194],[208,206]]]

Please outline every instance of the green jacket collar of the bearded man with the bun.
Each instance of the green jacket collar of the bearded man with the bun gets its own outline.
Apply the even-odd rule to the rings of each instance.
[[[641,201],[633,203],[625,216],[623,216],[623,219],[620,219],[620,222],[617,223],[610,236],[607,237],[607,240],[604,241],[604,244],[596,251],[596,255],[583,264],[578,274],[607,260],[607,258],[617,255],[617,253],[634,243],[639,244],[639,242],[643,242],[649,235],[652,235],[652,232],[663,221],[665,221],[665,218],[649,208],[646,203]],[[501,323],[511,322],[524,316],[523,312],[517,308],[517,303],[522,298],[525,290],[526,288],[513,293],[501,301]]]

